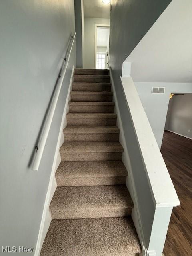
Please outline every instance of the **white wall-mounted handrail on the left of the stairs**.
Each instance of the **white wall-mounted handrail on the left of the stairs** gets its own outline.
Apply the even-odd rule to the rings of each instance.
[[[53,95],[51,103],[50,103],[50,109],[48,111],[46,121],[45,121],[43,129],[42,129],[42,136],[41,136],[41,138],[38,142],[38,145],[35,147],[36,155],[35,155],[35,158],[34,158],[34,162],[32,164],[32,170],[33,171],[38,171],[38,169],[39,169],[39,165],[40,165],[40,162],[41,162],[41,158],[42,158],[43,151],[44,151],[46,141],[47,141],[47,137],[48,137],[48,134],[49,134],[50,126],[51,126],[51,123],[52,123],[52,120],[53,120],[54,112],[55,112],[56,105],[57,105],[57,102],[58,102],[58,98],[59,98],[59,95],[60,95],[60,90],[62,88],[62,83],[63,83],[65,73],[66,73],[66,69],[67,69],[67,66],[68,66],[70,54],[71,54],[72,47],[73,47],[73,44],[74,44],[75,36],[76,36],[76,33],[74,34],[74,36],[71,36],[72,44],[70,42],[71,46],[70,46],[70,48],[68,49],[68,51],[66,53],[66,57],[64,58],[64,64],[62,65],[62,70],[58,75],[58,83],[56,85],[56,89],[54,91],[54,95]]]

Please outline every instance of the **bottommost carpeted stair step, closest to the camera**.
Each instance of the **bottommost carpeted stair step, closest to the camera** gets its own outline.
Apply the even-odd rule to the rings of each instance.
[[[130,217],[52,220],[40,256],[136,256],[140,243]]]

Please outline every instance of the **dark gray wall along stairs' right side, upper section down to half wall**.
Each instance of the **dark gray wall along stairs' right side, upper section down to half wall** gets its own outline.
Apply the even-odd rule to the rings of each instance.
[[[126,57],[170,2],[170,0],[112,0],[111,2],[109,65],[112,68],[126,144],[132,170],[134,170],[134,181],[146,244],[150,242],[154,204],[149,187],[144,186],[144,184],[148,184],[148,180],[141,160],[132,120],[124,99],[120,76],[122,74],[122,63]]]

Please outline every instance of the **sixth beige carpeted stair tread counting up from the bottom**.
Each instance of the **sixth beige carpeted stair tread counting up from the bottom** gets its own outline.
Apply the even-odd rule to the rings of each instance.
[[[67,118],[117,118],[115,113],[68,113]]]

